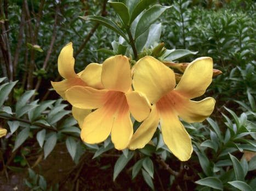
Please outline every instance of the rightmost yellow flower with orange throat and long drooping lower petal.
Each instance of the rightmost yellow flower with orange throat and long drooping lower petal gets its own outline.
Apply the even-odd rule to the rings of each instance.
[[[170,151],[180,160],[188,160],[193,148],[179,117],[192,123],[202,122],[212,114],[213,98],[208,97],[200,102],[190,100],[205,93],[212,82],[212,75],[212,58],[197,58],[189,64],[176,86],[172,69],[151,56],[141,58],[135,64],[133,87],[146,95],[152,103],[152,110],[134,133],[129,148],[143,148],[160,122],[163,141]]]

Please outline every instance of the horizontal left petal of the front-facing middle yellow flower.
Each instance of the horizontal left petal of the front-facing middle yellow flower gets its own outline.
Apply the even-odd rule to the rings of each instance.
[[[96,109],[105,103],[106,89],[73,86],[65,92],[67,101],[76,108]]]

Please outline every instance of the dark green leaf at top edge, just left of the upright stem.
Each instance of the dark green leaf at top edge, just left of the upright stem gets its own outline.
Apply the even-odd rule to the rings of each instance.
[[[130,14],[125,4],[121,2],[109,2],[120,17],[124,26],[129,26]]]

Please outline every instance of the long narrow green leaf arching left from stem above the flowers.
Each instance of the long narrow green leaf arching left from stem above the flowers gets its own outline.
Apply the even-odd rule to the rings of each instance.
[[[128,38],[126,37],[126,34],[122,31],[121,28],[119,28],[116,23],[113,21],[107,19],[106,17],[103,16],[79,16],[81,19],[84,20],[90,20],[90,21],[95,21],[100,23],[101,25],[104,25],[105,27],[111,29],[112,31],[116,32],[117,34],[121,35],[124,39],[126,39],[127,42],[129,42]]]

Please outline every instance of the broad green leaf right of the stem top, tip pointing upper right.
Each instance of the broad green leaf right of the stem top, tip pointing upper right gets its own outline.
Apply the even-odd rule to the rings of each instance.
[[[162,5],[153,5],[147,9],[141,16],[136,29],[134,39],[138,38],[139,35],[143,34],[149,27],[155,22],[160,15],[170,7]]]

